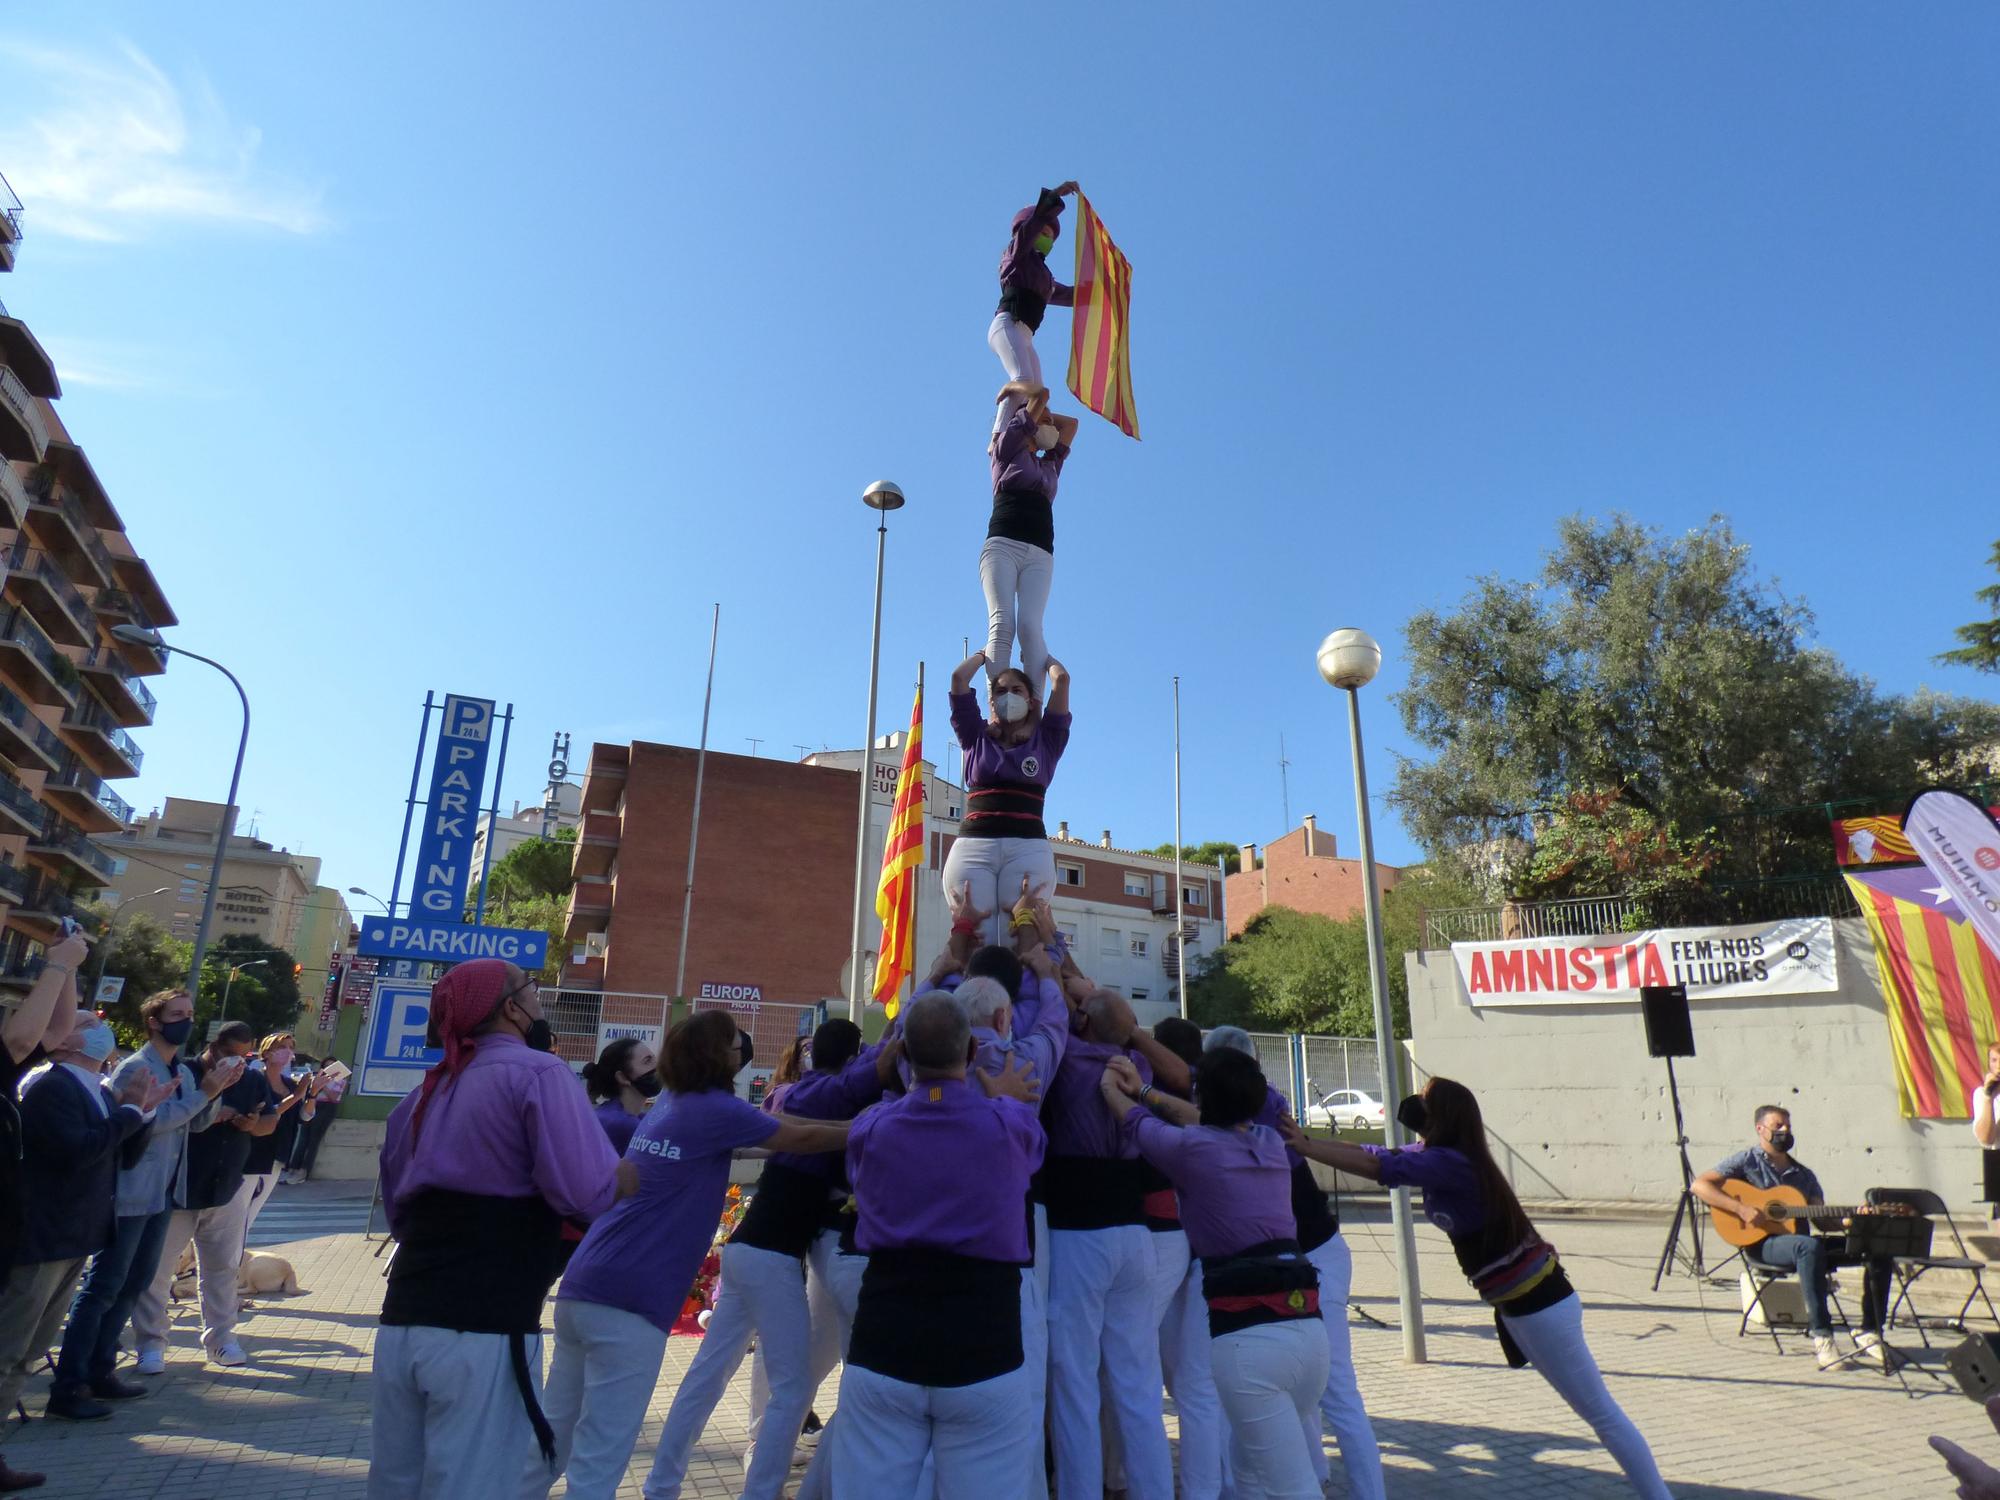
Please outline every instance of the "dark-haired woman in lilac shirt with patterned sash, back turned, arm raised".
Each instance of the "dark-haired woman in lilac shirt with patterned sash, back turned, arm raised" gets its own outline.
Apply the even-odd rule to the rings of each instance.
[[[1114,1058],[1102,1092],[1140,1156],[1180,1194],[1188,1248],[1202,1260],[1210,1364],[1240,1486],[1268,1500],[1318,1500],[1306,1428],[1326,1390],[1320,1278],[1298,1244],[1284,1142],[1256,1124],[1264,1072],[1242,1052],[1206,1052],[1190,1106],[1142,1086],[1138,1070]]]

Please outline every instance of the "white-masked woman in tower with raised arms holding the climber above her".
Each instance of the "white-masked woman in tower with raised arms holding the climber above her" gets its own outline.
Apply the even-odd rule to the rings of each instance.
[[[992,718],[980,718],[972,678],[986,666],[976,652],[952,672],[952,732],[966,752],[966,818],[944,856],[944,888],[964,890],[970,910],[986,912],[978,944],[1006,944],[1008,912],[1026,892],[1046,896],[1056,884],[1042,802],[1056,762],[1070,742],[1070,674],[1048,662],[1048,708],[1026,674],[1002,664],[988,692]]]

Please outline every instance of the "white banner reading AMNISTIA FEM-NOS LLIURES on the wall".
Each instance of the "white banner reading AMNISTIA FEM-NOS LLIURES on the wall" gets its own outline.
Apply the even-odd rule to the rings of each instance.
[[[1648,984],[1686,984],[1690,1000],[1840,988],[1830,916],[1602,938],[1454,942],[1452,958],[1474,1006],[1610,1006],[1638,1000]]]

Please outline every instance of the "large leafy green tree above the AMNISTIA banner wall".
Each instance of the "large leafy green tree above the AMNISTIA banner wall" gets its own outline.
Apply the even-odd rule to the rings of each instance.
[[[1586,832],[1572,796],[1610,798],[1606,836],[1644,818],[1706,860],[1706,830],[1750,810],[1900,798],[1968,772],[2000,738],[2000,708],[1882,694],[1810,630],[1810,610],[1756,576],[1722,518],[1662,536],[1572,516],[1538,578],[1484,578],[1456,610],[1406,626],[1396,704],[1432,754],[1400,764],[1390,800],[1434,858],[1518,850],[1506,876],[1534,896],[1536,840],[1564,810]],[[1824,868],[1824,818],[1720,838],[1706,872]],[[1568,854],[1542,868],[1556,888],[1584,870]]]

